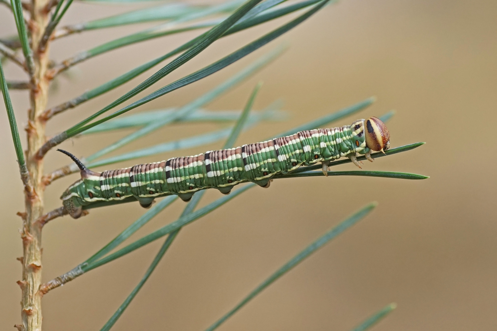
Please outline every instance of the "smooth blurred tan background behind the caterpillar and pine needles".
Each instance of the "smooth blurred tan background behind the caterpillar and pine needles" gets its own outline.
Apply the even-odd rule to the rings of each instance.
[[[64,23],[131,8],[75,3]],[[277,98],[285,100],[288,121],[263,123],[243,133],[238,144],[259,141],[375,95],[378,101],[373,106],[334,125],[396,109],[388,123],[392,145],[427,143],[368,162],[365,169],[431,178],[320,177],[275,181],[269,190],[251,189],[181,231],[114,330],[204,330],[280,265],[372,200],[379,206],[370,216],[283,276],[219,330],[346,331],[390,302],[397,302],[398,308],[374,330],[496,330],[496,17],[496,1],[342,0],[239,63],[137,110],[183,105],[288,41],[291,48],[280,59],[208,105],[212,110],[240,109],[259,80],[264,85],[255,109]],[[219,59],[287,19],[216,42],[155,87]],[[146,26],[85,32],[55,42],[51,53],[63,60]],[[0,8],[1,34],[13,33],[13,27],[7,10]],[[152,40],[89,60],[73,70],[73,80],[60,80],[50,105],[80,95],[194,35]],[[23,77],[12,65],[6,71],[11,79]],[[152,72],[58,116],[48,125],[48,133],[83,119]],[[12,97],[22,128],[26,92],[14,91]],[[15,258],[22,255],[17,232],[21,222],[15,212],[24,207],[7,117],[4,111],[0,116],[0,327],[11,330],[20,322],[15,281],[21,268]],[[194,126],[198,132],[219,127]],[[186,136],[184,128],[155,132],[154,141]],[[102,141],[110,143],[127,133],[87,136],[61,147],[89,155],[103,146]],[[147,139],[123,150],[144,143]],[[65,156],[52,151],[45,168],[51,171],[67,163]],[[332,170],[355,169],[348,164]],[[48,187],[47,210],[61,205],[60,194],[77,176]],[[357,187],[360,199],[355,200]],[[208,192],[201,204],[220,196]],[[132,239],[175,220],[183,206],[175,202]],[[143,212],[132,203],[94,209],[79,220],[66,216],[49,223],[43,237],[44,280],[84,261]],[[44,329],[99,330],[142,277],[162,242],[47,294]]]

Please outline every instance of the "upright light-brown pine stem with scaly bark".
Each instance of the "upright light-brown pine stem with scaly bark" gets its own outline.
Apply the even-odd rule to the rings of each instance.
[[[30,11],[31,20],[28,25],[31,35],[31,47],[38,49],[38,44],[48,24],[49,16],[45,8],[48,0],[32,0]],[[28,150],[26,165],[29,171],[32,192],[25,194],[25,217],[21,238],[23,243],[22,280],[18,282],[22,290],[21,318],[22,325],[17,328],[23,331],[42,330],[42,293],[38,291],[41,285],[41,231],[42,223],[36,222],[43,215],[43,160],[33,157],[45,142],[45,122],[39,120],[40,114],[47,105],[49,80],[46,71],[49,64],[48,48],[45,52],[34,52],[34,72],[30,86],[30,110],[28,112],[27,140]]]

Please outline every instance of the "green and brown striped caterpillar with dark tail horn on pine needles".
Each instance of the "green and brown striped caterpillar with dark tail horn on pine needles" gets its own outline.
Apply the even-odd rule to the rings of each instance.
[[[196,191],[215,188],[229,194],[233,186],[244,182],[268,188],[275,174],[287,174],[317,162],[322,162],[327,176],[330,162],[344,156],[361,168],[356,153],[373,162],[371,150],[384,152],[389,147],[387,127],[380,119],[370,117],[348,126],[300,131],[242,147],[101,173],[87,169],[73,154],[58,149],[71,157],[81,170],[81,179],[71,185],[61,199],[73,218],[82,215],[83,206],[128,197],[136,198],[147,208],[157,197],[178,195],[183,201],[189,201]]]

